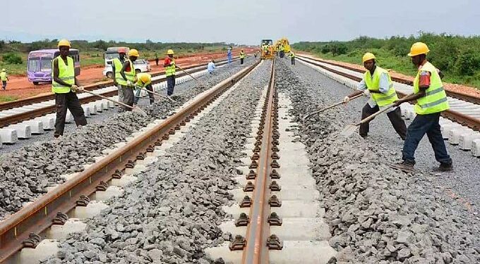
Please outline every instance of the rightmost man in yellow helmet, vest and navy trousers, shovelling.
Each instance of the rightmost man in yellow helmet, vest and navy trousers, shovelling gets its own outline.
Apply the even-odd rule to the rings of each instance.
[[[414,106],[416,117],[407,130],[407,139],[405,139],[402,151],[403,162],[396,165],[396,168],[404,171],[413,170],[416,147],[425,134],[435,152],[436,160],[440,162],[440,166],[436,170],[449,171],[453,168],[452,159],[445,148],[438,122],[440,113],[448,110],[450,106],[438,69],[426,60],[428,51],[430,49],[422,42],[412,45],[408,56],[412,57],[412,63],[419,68],[414,80],[414,94],[405,96],[394,103],[395,106],[400,106],[401,103],[416,100]]]

